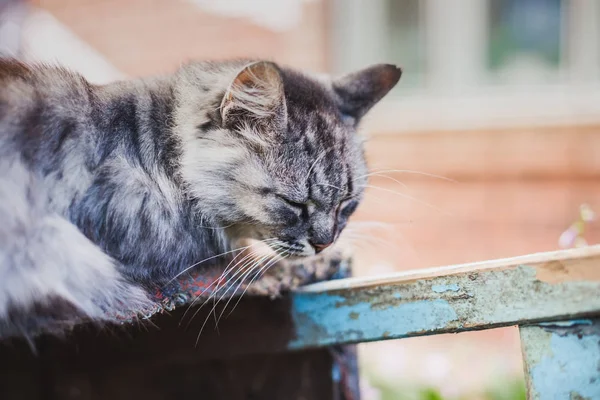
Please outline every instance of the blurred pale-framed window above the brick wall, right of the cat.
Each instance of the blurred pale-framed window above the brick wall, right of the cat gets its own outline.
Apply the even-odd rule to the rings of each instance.
[[[332,3],[334,72],[404,68],[373,118],[395,131],[398,118],[407,129],[600,122],[596,0]]]

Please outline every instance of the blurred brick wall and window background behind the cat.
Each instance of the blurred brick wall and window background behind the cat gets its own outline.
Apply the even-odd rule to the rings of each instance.
[[[600,210],[596,0],[0,0],[0,52],[95,83],[240,56],[401,65],[363,124],[357,275],[555,250],[582,204]],[[365,399],[524,399],[513,328],[360,356]]]

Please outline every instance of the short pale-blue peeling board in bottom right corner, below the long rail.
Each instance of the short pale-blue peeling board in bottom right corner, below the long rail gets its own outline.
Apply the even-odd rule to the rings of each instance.
[[[520,328],[529,400],[600,398],[600,319]]]

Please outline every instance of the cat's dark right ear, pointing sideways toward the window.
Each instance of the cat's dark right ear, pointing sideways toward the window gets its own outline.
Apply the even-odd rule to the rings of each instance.
[[[377,64],[333,81],[342,114],[358,121],[400,80],[395,65]]]

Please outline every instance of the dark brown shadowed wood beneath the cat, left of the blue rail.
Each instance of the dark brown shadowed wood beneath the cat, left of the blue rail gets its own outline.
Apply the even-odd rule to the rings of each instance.
[[[289,299],[244,298],[218,329],[210,309],[0,341],[0,399],[360,399],[352,346],[282,351],[292,337]]]

